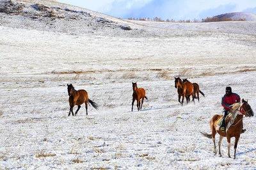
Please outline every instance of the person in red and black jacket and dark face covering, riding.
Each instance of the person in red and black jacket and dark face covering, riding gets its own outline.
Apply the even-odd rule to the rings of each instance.
[[[225,131],[225,118],[228,112],[232,111],[231,105],[240,102],[240,97],[236,93],[232,93],[231,87],[226,87],[226,94],[222,97],[221,105],[224,107],[224,115],[221,123],[221,131]]]

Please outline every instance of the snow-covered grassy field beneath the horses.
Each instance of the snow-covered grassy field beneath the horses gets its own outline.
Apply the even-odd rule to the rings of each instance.
[[[215,24],[230,29],[233,22]],[[256,110],[256,26],[241,24],[234,34],[148,23],[138,26],[143,36],[3,24],[0,169],[255,169],[255,117],[244,118],[236,160],[227,157],[226,140],[221,158],[200,134],[221,114],[225,86]],[[200,103],[181,107],[175,76],[198,82]],[[147,91],[140,112],[131,112],[134,81]],[[83,105],[68,117],[67,83],[86,89],[99,111],[89,106],[86,116]]]

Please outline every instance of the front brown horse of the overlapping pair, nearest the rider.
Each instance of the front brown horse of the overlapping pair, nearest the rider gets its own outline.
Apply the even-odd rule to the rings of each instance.
[[[195,104],[194,100],[194,87],[191,82],[182,82],[180,77],[174,77],[175,78],[175,88],[177,88],[177,92],[179,95],[179,102],[180,102],[180,97],[182,97],[182,102],[180,102],[181,105],[184,103],[184,97],[186,97],[187,104],[189,102],[189,97],[192,96],[192,101]]]

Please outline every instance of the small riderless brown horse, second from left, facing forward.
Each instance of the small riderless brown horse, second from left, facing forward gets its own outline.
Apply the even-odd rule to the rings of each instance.
[[[146,97],[146,91],[143,88],[138,88],[137,87],[137,82],[132,82],[132,89],[133,89],[133,93],[132,93],[132,111],[133,111],[133,104],[134,104],[135,100],[137,100],[137,108],[138,108],[138,111],[140,111],[141,108],[142,108],[144,98],[146,98],[148,100],[148,98]],[[141,100],[141,103],[140,103],[140,100]]]

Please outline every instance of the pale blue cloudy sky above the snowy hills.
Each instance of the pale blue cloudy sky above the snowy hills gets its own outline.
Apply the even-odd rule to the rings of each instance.
[[[193,20],[229,12],[256,13],[256,0],[58,0],[113,17]]]

